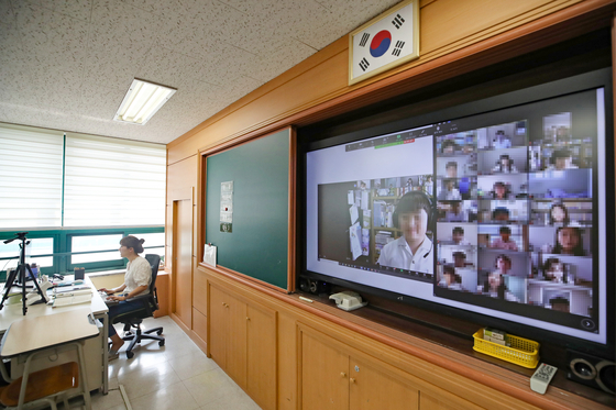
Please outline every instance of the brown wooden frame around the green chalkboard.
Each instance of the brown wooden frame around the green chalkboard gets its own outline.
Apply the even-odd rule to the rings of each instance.
[[[287,232],[286,232],[286,286],[279,286],[276,284],[272,284],[267,280],[263,280],[262,278],[252,276],[248,272],[238,272],[230,267],[222,265],[217,265],[212,267],[210,265],[204,264],[204,245],[206,244],[207,239],[207,229],[208,229],[208,159],[212,158],[216,155],[224,154],[229,151],[244,147],[245,145],[250,145],[251,143],[257,142],[262,138],[267,138],[268,136],[273,136],[278,133],[286,132],[286,135],[282,135],[280,137],[285,137],[288,140],[288,152],[287,154],[287,178],[288,178],[288,196],[285,196],[284,200],[286,201],[286,210],[287,210]],[[263,285],[270,289],[290,293],[295,291],[296,285],[296,158],[297,158],[297,137],[296,137],[296,129],[294,126],[285,126],[282,129],[274,130],[266,134],[254,136],[253,133],[249,133],[246,135],[226,141],[221,144],[206,146],[199,149],[200,154],[200,162],[199,162],[199,181],[198,188],[199,191],[198,196],[198,209],[197,209],[197,223],[198,223],[198,231],[197,231],[197,257],[199,261],[199,265],[207,268],[216,270],[220,274],[226,276],[248,279],[250,281]],[[267,158],[263,158],[262,160],[266,160]],[[220,187],[216,187],[216,189],[220,189]],[[211,204],[210,207],[218,207],[217,204]],[[210,217],[211,221],[211,217]],[[213,223],[213,222],[210,222]],[[217,221],[217,225],[219,225]],[[233,234],[233,233],[231,233]],[[217,245],[212,243],[212,245]],[[220,253],[220,250],[219,250]],[[220,259],[218,261],[221,262]]]

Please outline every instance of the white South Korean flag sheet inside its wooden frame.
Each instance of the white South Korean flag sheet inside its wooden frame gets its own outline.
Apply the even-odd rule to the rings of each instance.
[[[403,59],[408,60],[418,56],[418,49],[414,49],[415,44],[419,44],[414,38],[416,9],[417,2],[414,1],[351,34],[353,49],[351,81],[391,63],[402,63]]]

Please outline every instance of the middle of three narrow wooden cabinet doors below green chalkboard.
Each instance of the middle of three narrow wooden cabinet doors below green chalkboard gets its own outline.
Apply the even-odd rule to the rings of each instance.
[[[227,374],[246,389],[246,303],[224,295],[228,311]]]

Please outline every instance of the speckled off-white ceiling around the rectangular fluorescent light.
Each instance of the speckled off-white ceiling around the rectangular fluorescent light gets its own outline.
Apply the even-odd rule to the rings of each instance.
[[[398,0],[0,0],[0,122],[166,144]],[[177,88],[113,121],[133,78]]]

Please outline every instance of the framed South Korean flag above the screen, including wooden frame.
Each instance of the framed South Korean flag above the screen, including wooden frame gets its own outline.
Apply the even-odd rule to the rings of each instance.
[[[419,0],[407,0],[349,34],[349,85],[418,57]]]

